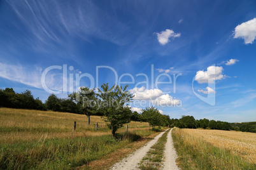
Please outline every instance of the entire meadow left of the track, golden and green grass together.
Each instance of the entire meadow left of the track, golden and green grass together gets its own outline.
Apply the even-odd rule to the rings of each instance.
[[[145,122],[130,122],[129,133],[121,128],[115,139],[99,116],[88,126],[85,115],[39,110],[0,108],[0,120],[1,169],[73,169],[153,133]]]

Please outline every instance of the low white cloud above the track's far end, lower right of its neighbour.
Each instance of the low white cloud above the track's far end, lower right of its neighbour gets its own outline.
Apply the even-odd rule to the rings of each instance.
[[[161,107],[166,107],[166,106],[171,107],[171,106],[178,105],[180,103],[180,100],[173,99],[172,96],[166,94],[166,95],[159,96],[158,98],[156,98],[155,100],[152,100],[151,102],[153,103],[153,105],[157,105]]]

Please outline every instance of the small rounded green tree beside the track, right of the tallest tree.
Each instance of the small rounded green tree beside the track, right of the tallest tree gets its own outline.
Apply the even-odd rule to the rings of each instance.
[[[150,129],[150,126],[160,126],[160,112],[155,107],[146,107],[145,109],[142,109],[141,117],[143,121],[148,122],[148,128]]]

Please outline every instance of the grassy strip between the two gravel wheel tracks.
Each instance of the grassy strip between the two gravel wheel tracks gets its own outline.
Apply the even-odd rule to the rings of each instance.
[[[166,146],[167,134],[171,129],[166,131],[150,148],[150,151],[143,157],[139,164],[139,169],[150,170],[150,169],[160,169],[162,167],[162,159],[164,157],[164,148]]]

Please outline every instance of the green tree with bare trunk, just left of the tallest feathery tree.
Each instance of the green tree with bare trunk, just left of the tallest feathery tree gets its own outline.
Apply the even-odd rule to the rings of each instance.
[[[77,93],[74,92],[70,94],[69,98],[78,103],[77,107],[82,114],[87,115],[88,124],[90,125],[90,115],[94,115],[97,112],[97,96],[95,89],[80,87],[80,90]]]

